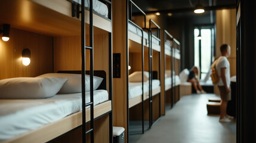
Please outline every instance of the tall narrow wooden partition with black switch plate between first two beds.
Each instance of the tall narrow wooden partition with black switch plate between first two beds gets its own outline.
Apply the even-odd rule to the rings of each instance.
[[[127,120],[127,1],[112,2],[113,53],[121,54],[121,78],[113,79],[113,126],[125,128],[128,141]]]

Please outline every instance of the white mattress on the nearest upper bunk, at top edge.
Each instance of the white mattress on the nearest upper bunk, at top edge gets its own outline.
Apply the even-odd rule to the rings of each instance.
[[[72,0],[72,1],[77,2],[78,4],[82,3],[82,0]],[[84,0],[84,1],[85,1],[85,7],[90,8],[89,0]],[[109,14],[107,5],[103,4],[102,2],[100,2],[98,0],[92,0],[92,3],[93,3],[92,8],[96,13],[103,15],[104,17],[107,17],[107,15]]]

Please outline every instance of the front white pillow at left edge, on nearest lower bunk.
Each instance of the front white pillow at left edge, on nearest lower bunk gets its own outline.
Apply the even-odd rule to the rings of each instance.
[[[1,99],[49,98],[67,81],[58,77],[17,77],[0,80]]]

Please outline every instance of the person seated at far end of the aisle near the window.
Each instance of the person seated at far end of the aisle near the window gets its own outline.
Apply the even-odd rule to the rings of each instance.
[[[199,83],[199,79],[198,79],[198,67],[194,66],[192,67],[191,70],[189,70],[189,80],[188,82],[191,82],[193,87],[196,89],[196,93],[197,94],[206,94],[205,91],[203,91],[202,86]],[[198,85],[198,86],[196,86]],[[200,91],[199,91],[199,89]]]

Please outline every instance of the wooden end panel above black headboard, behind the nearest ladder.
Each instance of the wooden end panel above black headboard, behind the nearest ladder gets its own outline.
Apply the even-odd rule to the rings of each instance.
[[[87,35],[88,37],[88,35]],[[89,45],[90,39],[86,39]],[[90,51],[85,51],[86,70],[90,70]],[[54,72],[59,70],[81,70],[81,36],[54,38]],[[109,89],[109,38],[108,34],[94,35],[94,70],[104,70]]]

